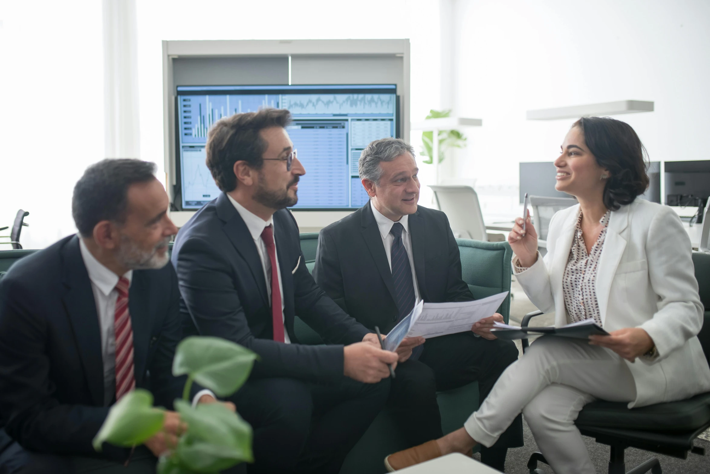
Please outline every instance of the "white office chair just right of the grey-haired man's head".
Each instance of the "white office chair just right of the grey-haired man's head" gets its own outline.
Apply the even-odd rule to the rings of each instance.
[[[498,234],[486,233],[479,196],[474,188],[440,185],[430,186],[430,188],[437,199],[439,210],[449,218],[454,237],[484,242],[498,238]]]

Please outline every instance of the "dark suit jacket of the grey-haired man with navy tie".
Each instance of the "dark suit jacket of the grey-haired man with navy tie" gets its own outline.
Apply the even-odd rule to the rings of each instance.
[[[420,297],[427,303],[471,301],[461,255],[442,211],[417,206],[409,232]],[[398,310],[392,270],[368,202],[318,236],[313,276],[343,309],[368,328],[388,333]]]

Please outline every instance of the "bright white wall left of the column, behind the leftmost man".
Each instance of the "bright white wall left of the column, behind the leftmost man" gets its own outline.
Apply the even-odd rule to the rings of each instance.
[[[26,248],[76,231],[74,184],[104,155],[102,41],[100,1],[0,2],[0,227],[29,211]]]

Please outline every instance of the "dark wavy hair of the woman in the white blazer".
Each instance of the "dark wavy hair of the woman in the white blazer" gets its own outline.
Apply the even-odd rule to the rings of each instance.
[[[609,170],[603,194],[606,209],[617,211],[646,191],[649,181],[644,155],[648,153],[628,123],[609,117],[582,117],[572,126],[584,133],[596,163]]]

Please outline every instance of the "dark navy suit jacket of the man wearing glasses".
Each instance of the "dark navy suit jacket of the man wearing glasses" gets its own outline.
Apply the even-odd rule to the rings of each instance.
[[[316,285],[300,249],[293,214],[273,214],[283,285],[285,329],[291,344],[273,341],[271,302],[256,244],[222,193],[180,229],[173,247],[185,332],[219,336],[258,353],[251,377],[333,382],[343,377],[343,344],[368,331]],[[305,346],[293,331],[298,315],[328,344]]]

